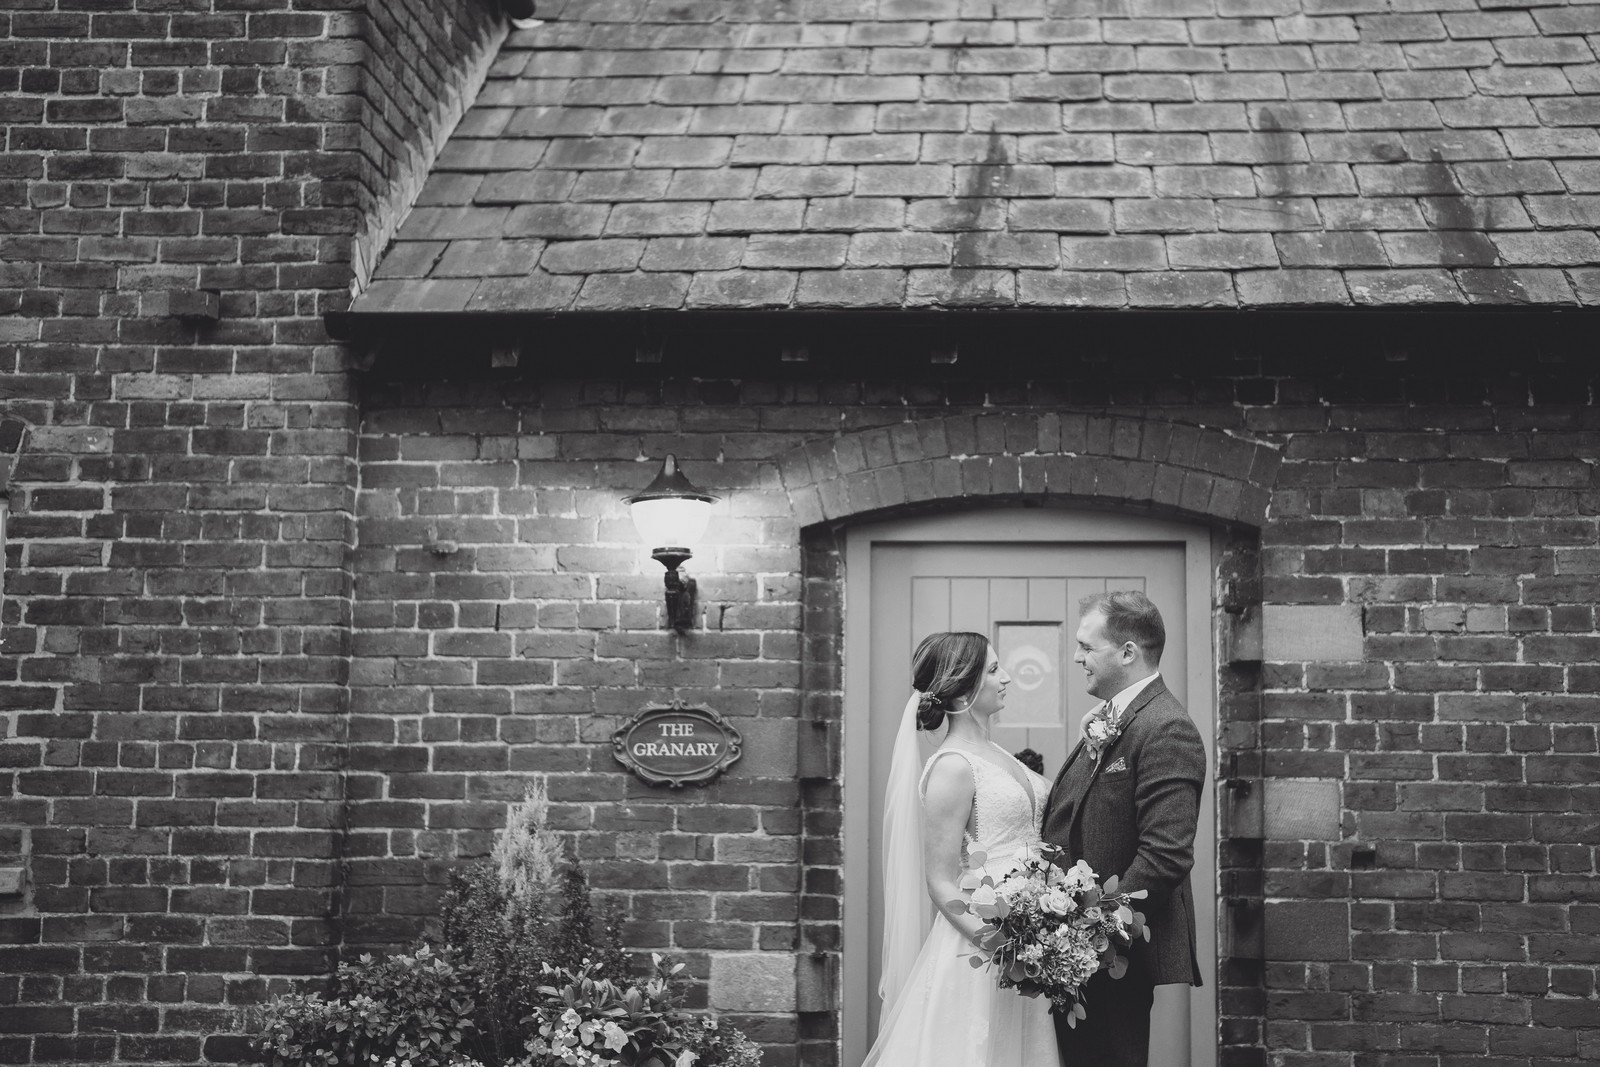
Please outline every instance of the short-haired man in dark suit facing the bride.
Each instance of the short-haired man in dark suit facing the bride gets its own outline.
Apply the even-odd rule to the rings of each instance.
[[[1117,875],[1118,893],[1146,889],[1134,907],[1150,941],[1133,944],[1120,979],[1101,971],[1088,981],[1088,1019],[1069,1027],[1056,1016],[1056,1041],[1064,1064],[1146,1067],[1155,987],[1200,984],[1189,869],[1206,755],[1200,731],[1162,683],[1166,627],[1149,597],[1094,593],[1082,613],[1072,661],[1104,702],[1085,717],[1083,741],[1056,776],[1043,837],[1099,878]]]

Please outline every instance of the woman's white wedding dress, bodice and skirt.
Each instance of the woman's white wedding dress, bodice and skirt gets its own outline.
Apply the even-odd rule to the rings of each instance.
[[[1050,784],[1021,763],[1018,776],[994,763],[1013,761],[990,742],[989,758],[973,745],[947,741],[922,769],[918,792],[938,760],[965,760],[973,771],[976,833],[965,835],[965,853],[986,853],[987,870],[998,881],[1013,870],[1018,853],[1038,845],[1038,816]],[[933,928],[893,1006],[885,1006],[878,1040],[862,1067],[1058,1067],[1056,1029],[1050,1001],[1000,989],[992,968],[974,968],[974,949],[962,933],[934,913]]]

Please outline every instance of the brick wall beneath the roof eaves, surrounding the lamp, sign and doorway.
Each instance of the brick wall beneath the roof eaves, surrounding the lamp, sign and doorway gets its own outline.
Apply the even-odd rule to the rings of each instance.
[[[1264,661],[1224,651],[1218,677],[1219,773],[1253,779],[1269,806],[1219,853],[1240,899],[1224,1062],[1594,1057],[1587,360],[1528,338],[1538,362],[1464,354],[1499,336],[1470,323],[1437,347],[1141,326],[1117,331],[1115,360],[1085,339],[1048,371],[1006,370],[1005,341],[963,341],[976,374],[923,363],[882,379],[842,370],[862,352],[789,378],[698,373],[706,339],[664,378],[472,370],[459,344],[448,373],[427,346],[414,376],[379,366],[362,424],[352,937],[426,928],[445,867],[480,854],[504,800],[549,774],[634,944],[686,953],[702,995],[778,1045],[768,1062],[832,1062],[837,1021],[790,1014],[792,997],[808,1006],[790,957],[838,949],[838,792],[795,782],[790,739],[838,713],[840,557],[826,528],[800,536],[781,459],[816,442],[842,474],[893,464],[851,435],[963,413],[1139,416],[1157,429],[1123,440],[1115,427],[1141,422],[1118,422],[1104,448],[1138,458],[1160,427],[1202,424],[1282,454],[1267,523],[1230,526],[1216,574],[1226,614],[1272,624]],[[582,350],[606,366],[603,346]],[[957,451],[1038,448],[1010,448],[1005,426],[979,421]],[[685,637],[661,629],[658,565],[619,502],[667,450],[723,496],[690,563],[701,625]],[[1029,462],[1010,469],[1027,478]],[[1149,486],[1107,477],[1099,506],[1152,506]],[[670,696],[746,733],[746,760],[704,793],[643,789],[610,755],[626,715]],[[1306,797],[1330,803],[1307,821],[1293,809]],[[763,1001],[741,998],[757,985]]]

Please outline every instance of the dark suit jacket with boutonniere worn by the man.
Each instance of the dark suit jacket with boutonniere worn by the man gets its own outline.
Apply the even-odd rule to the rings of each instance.
[[[1122,736],[1098,761],[1082,742],[1067,757],[1045,806],[1043,838],[1074,861],[1088,861],[1101,878],[1118,875],[1118,891],[1150,894],[1134,905],[1144,912],[1150,941],[1130,949],[1131,968],[1157,985],[1198,985],[1189,869],[1206,779],[1205,745],[1162,678],[1128,704],[1122,721]]]

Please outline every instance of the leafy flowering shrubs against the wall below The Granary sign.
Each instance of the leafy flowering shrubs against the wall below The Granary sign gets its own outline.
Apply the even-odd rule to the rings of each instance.
[[[490,859],[451,873],[443,945],[341,965],[333,990],[282,997],[256,1048],[272,1067],[758,1067],[742,1033],[680,1011],[682,965],[634,979],[614,910],[595,915],[542,784]]]

